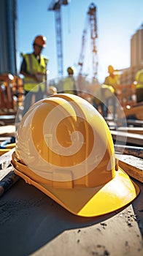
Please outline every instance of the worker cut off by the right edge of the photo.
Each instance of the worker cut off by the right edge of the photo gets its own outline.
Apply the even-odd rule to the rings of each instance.
[[[143,101],[143,69],[136,72],[134,84],[136,85],[136,102]]]

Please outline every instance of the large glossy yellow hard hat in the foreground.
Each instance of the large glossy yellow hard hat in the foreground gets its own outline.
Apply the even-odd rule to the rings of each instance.
[[[81,97],[55,94],[36,102],[16,140],[15,173],[73,214],[107,214],[139,194],[117,166],[106,121]]]

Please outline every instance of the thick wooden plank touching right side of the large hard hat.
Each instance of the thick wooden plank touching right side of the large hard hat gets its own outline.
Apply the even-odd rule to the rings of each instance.
[[[128,173],[129,176],[136,178],[136,180],[143,182],[143,160],[130,156],[116,154],[119,160],[119,166]]]

